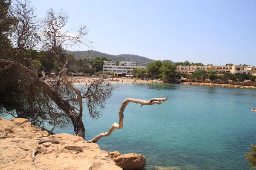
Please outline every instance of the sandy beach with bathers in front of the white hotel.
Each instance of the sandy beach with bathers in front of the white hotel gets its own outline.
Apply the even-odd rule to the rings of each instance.
[[[90,83],[95,81],[95,79],[93,78],[87,78],[87,79],[83,79],[83,78],[70,78],[70,80],[73,83],[79,84],[79,83]],[[109,79],[109,81],[105,81],[105,82],[111,82],[111,83],[151,83],[150,80],[142,80],[142,79],[137,79],[137,78],[112,78]],[[161,80],[157,80],[157,83],[163,83]]]

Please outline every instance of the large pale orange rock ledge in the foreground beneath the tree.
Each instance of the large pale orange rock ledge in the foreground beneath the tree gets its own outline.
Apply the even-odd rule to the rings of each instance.
[[[97,144],[66,133],[49,136],[22,118],[0,118],[0,169],[122,170]]]

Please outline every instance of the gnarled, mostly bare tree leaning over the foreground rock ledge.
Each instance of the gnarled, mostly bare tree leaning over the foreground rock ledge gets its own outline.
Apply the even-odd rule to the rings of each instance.
[[[9,82],[18,81],[17,83],[24,81],[24,87],[21,90],[31,89],[31,94],[27,95],[29,101],[36,99],[38,105],[40,105],[41,100],[44,100],[45,105],[38,108],[38,113],[49,119],[54,115],[58,121],[61,121],[60,118],[65,115],[74,126],[74,135],[84,138],[83,103],[86,104],[90,116],[97,118],[101,115],[100,110],[105,107],[105,100],[111,96],[113,91],[111,84],[104,83],[102,80],[92,82],[87,88],[79,90],[67,79],[66,69],[70,56],[66,53],[66,49],[73,45],[87,45],[85,43],[86,38],[84,38],[88,32],[86,26],[79,26],[78,30],[70,30],[76,31],[75,35],[70,34],[70,31],[64,31],[68,20],[67,13],[63,11],[56,13],[50,9],[47,11],[41,29],[36,29],[39,25],[37,25],[38,21],[34,20],[36,18],[33,8],[29,6],[29,1],[25,0],[24,3],[15,2],[15,5],[10,8],[11,13],[9,14],[16,21],[14,25],[15,33],[12,36],[15,49],[13,49],[13,54],[8,56],[9,58],[0,58],[0,75],[3,72],[6,75],[5,79],[0,79],[0,83],[4,84],[8,82],[8,79]],[[37,45],[41,45],[41,48]],[[90,45],[87,45],[87,47],[90,48]],[[58,65],[57,76],[53,77],[51,74],[47,74],[44,69],[35,70],[32,60],[26,57],[26,52],[29,49],[49,51],[51,56],[54,57],[56,65]],[[19,74],[15,74],[14,77],[8,76],[17,72]],[[25,77],[28,79],[25,79]],[[28,86],[32,87],[29,88]],[[4,87],[7,89],[8,85]],[[34,88],[36,91],[33,90]],[[4,94],[6,89],[1,92]],[[17,94],[23,95],[19,88],[17,90],[19,90]],[[43,95],[37,98],[41,94]],[[5,110],[8,103],[0,102],[1,109]],[[17,100],[14,100],[14,102],[17,102]],[[31,105],[29,103],[25,104],[26,109],[29,109]],[[51,120],[55,121],[54,119]]]

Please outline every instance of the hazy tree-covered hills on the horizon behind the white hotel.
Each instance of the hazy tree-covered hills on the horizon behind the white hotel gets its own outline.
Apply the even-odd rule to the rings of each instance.
[[[74,54],[76,58],[87,58],[87,59],[94,59],[95,57],[106,57],[111,59],[112,61],[135,61],[137,65],[148,65],[150,62],[154,62],[154,59],[149,59],[146,57],[133,55],[133,54],[120,54],[120,55],[111,55],[101,53],[99,51],[67,51],[70,54]],[[164,60],[167,61],[167,60]],[[171,60],[168,60],[171,63]]]

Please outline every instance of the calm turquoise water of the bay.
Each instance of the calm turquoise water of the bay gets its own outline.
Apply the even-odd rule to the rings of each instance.
[[[121,83],[120,83],[121,84]],[[81,85],[79,85],[81,86]],[[161,90],[157,90],[161,88]],[[248,170],[244,158],[256,144],[256,90],[169,84],[121,84],[107,100],[100,119],[84,111],[86,140],[118,122],[118,109],[127,98],[168,97],[161,105],[130,103],[124,127],[100,139],[102,150],[140,153],[146,169],[154,166],[181,170]],[[73,128],[55,133],[73,134]]]

